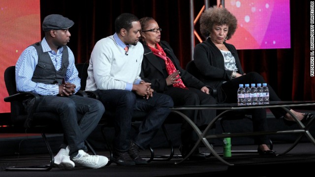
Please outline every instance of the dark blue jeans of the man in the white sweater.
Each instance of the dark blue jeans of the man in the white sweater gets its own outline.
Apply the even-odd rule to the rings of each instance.
[[[147,112],[142,120],[134,142],[139,148],[149,146],[165,118],[173,106],[171,97],[161,93],[153,93],[153,97],[144,99],[128,90],[109,89],[96,90],[106,110],[114,111],[115,139],[114,150],[126,152],[130,147],[131,119],[134,110]]]

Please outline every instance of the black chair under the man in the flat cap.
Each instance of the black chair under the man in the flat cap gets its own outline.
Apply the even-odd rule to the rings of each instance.
[[[9,66],[4,71],[5,87],[9,96],[4,98],[5,102],[11,104],[12,132],[15,133],[40,133],[50,156],[48,165],[36,165],[25,167],[7,167],[6,171],[49,171],[54,165],[54,154],[46,138],[45,133],[62,133],[59,115],[51,112],[36,113],[34,110],[39,102],[39,95],[33,92],[17,92],[15,83],[15,66]],[[82,96],[87,96],[80,91]],[[32,110],[28,114],[23,106],[23,100],[35,98]],[[88,148],[92,148],[87,144]],[[94,153],[95,151],[91,149]]]

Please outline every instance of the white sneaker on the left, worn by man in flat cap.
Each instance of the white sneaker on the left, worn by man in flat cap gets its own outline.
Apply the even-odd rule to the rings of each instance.
[[[68,147],[59,150],[58,154],[54,157],[55,158],[54,164],[56,167],[63,170],[74,169],[75,164],[70,160],[69,151],[70,150]]]

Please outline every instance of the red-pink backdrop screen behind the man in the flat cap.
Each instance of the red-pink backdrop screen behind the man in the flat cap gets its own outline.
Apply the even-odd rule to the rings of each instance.
[[[0,113],[10,112],[4,70],[15,65],[22,51],[40,41],[39,0],[0,0]]]

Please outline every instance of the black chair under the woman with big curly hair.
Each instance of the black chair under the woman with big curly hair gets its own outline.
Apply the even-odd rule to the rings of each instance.
[[[201,76],[201,74],[200,74],[200,72],[199,72],[198,68],[196,67],[195,62],[193,60],[191,60],[187,63],[186,70],[198,79]],[[210,87],[210,86],[207,86],[207,87],[210,88],[211,94],[215,98],[217,98],[218,97],[217,89],[214,87]],[[220,113],[221,113],[221,111],[217,111],[217,115],[219,115]],[[245,113],[245,111],[236,111],[236,110],[235,111],[229,111],[229,112],[226,112],[225,114],[221,115],[220,124],[221,124],[221,128],[222,128],[222,132],[223,133],[229,132],[225,128],[226,126],[225,126],[224,122],[230,121],[230,120],[242,120],[242,119],[248,119],[248,120],[252,121],[252,116],[247,115]],[[273,149],[273,143],[270,139],[269,139],[269,142],[270,142],[270,149],[272,150]],[[232,150],[231,152],[232,153],[252,153],[252,152],[257,152],[257,150]]]

